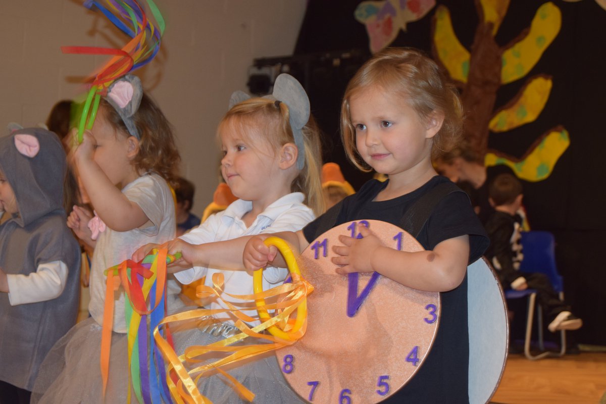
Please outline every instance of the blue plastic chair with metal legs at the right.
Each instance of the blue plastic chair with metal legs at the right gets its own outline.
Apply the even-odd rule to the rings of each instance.
[[[522,233],[522,259],[520,272],[539,272],[547,275],[551,285],[558,292],[561,300],[564,300],[564,282],[562,276],[558,273],[555,256],[555,239],[549,231],[525,231]],[[566,333],[560,331],[561,348],[558,353],[545,352],[543,339],[543,312],[541,306],[536,303],[536,290],[527,289],[522,291],[508,290],[505,292],[505,299],[520,299],[528,297],[528,314],[526,322],[526,336],[524,339],[524,355],[530,360],[542,359],[548,356],[563,356],[566,353]],[[536,307],[539,349],[541,354],[533,355],[530,353],[530,341],[532,337],[532,325],[534,308]]]

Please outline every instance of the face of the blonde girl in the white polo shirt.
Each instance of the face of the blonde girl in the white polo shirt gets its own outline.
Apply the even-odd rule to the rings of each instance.
[[[221,128],[221,174],[236,197],[262,202],[275,198],[272,180],[279,178],[278,157],[268,142],[259,140],[262,132],[258,127],[247,126],[247,130],[247,136],[241,136],[242,126],[235,122]]]

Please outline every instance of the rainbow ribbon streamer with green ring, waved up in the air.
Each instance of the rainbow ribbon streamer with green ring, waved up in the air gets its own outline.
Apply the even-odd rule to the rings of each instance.
[[[113,25],[132,38],[122,49],[84,46],[61,47],[63,53],[113,55],[106,64],[91,75],[91,78],[87,79],[87,81],[92,82],[78,125],[79,144],[82,143],[84,128],[90,130],[95,123],[99,101],[101,101],[101,96],[107,93],[107,87],[116,79],[148,64],[160,49],[165,28],[164,18],[153,0],[146,1],[157,26],[147,19],[144,8],[136,0],[84,1],[84,7],[89,10],[96,8],[101,11]]]

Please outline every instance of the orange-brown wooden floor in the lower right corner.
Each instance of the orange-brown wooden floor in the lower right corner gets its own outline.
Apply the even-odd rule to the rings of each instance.
[[[528,360],[511,355],[492,403],[606,403],[606,353]],[[605,397],[606,399],[606,397]]]

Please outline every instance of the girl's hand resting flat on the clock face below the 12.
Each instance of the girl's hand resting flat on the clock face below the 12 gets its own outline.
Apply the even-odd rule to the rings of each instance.
[[[339,241],[344,245],[333,246],[333,251],[339,254],[339,257],[333,257],[332,262],[342,265],[342,267],[336,268],[338,274],[375,271],[371,260],[376,251],[383,247],[383,244],[367,227],[360,226],[360,234],[361,239],[339,236]]]

